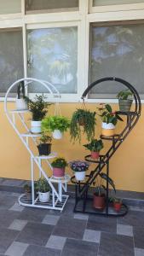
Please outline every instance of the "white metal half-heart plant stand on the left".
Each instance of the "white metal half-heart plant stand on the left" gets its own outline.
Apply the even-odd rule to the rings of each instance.
[[[46,208],[46,209],[55,209],[62,211],[65,207],[66,201],[68,199],[68,195],[63,194],[63,192],[66,192],[67,189],[67,183],[70,181],[70,177],[66,175],[62,178],[55,178],[55,177],[49,177],[47,172],[44,170],[42,166],[42,161],[45,161],[48,167],[48,170],[52,170],[52,167],[49,163],[49,160],[55,158],[57,153],[53,152],[49,155],[43,155],[38,156],[35,155],[32,151],[32,148],[30,147],[30,139],[32,140],[32,143],[35,145],[37,144],[37,137],[40,137],[40,134],[33,134],[30,129],[28,128],[26,124],[26,117],[25,113],[29,112],[29,110],[9,110],[8,108],[8,96],[10,90],[14,88],[15,85],[19,84],[21,81],[25,82],[25,87],[32,84],[32,82],[36,82],[39,84],[42,84],[48,92],[54,96],[55,98],[55,104],[58,104],[60,99],[60,93],[58,90],[56,90],[55,86],[53,84],[50,84],[47,81],[39,80],[39,79],[33,79],[33,78],[26,78],[26,79],[19,79],[14,82],[9,87],[9,90],[6,93],[5,99],[4,99],[4,111],[7,115],[7,118],[9,119],[9,123],[13,126],[14,131],[17,133],[17,135],[20,137],[20,140],[24,145],[26,146],[26,149],[28,150],[29,154],[31,155],[31,177],[32,177],[32,198],[27,199],[26,195],[20,195],[19,203],[22,206],[25,207],[38,207],[38,208]],[[21,126],[25,128],[25,132],[20,131],[20,125],[17,125],[17,119],[19,119]],[[49,183],[49,186],[51,188],[51,194],[50,194],[50,200],[46,203],[42,203],[38,200],[38,195],[35,195],[35,189],[34,189],[34,174],[36,172],[35,166],[38,167],[39,170],[39,177],[45,177]],[[57,185],[57,188],[56,188]]]

